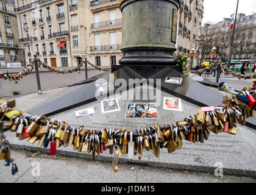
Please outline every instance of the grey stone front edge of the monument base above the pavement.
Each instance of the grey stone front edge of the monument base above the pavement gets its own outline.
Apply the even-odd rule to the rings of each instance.
[[[20,144],[12,144],[12,149],[20,150],[20,151],[38,151],[49,154],[49,149],[44,147],[35,147],[35,146],[24,146]],[[82,152],[71,152],[71,151],[60,151],[57,150],[58,155],[65,155],[67,157],[75,157],[81,159],[93,160],[91,154],[85,154]],[[105,157],[95,155],[95,160],[110,162],[112,163],[113,157]],[[162,163],[162,162],[152,162],[152,161],[143,161],[143,160],[130,160],[126,158],[119,158],[119,163],[130,164],[130,165],[143,165],[150,166],[155,168],[168,168],[168,169],[177,169],[180,171],[195,171],[195,172],[215,172],[216,167],[210,166],[196,166],[196,165],[182,165],[182,164],[174,164],[174,163]],[[253,177],[256,178],[256,171],[247,171],[247,170],[239,170],[239,169],[227,169],[223,168],[224,175],[230,176],[245,176],[245,177]]]

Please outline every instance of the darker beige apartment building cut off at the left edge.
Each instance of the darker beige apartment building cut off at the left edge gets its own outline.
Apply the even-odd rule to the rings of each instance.
[[[24,64],[23,49],[19,42],[15,6],[9,1],[0,1],[0,68],[7,63]]]

